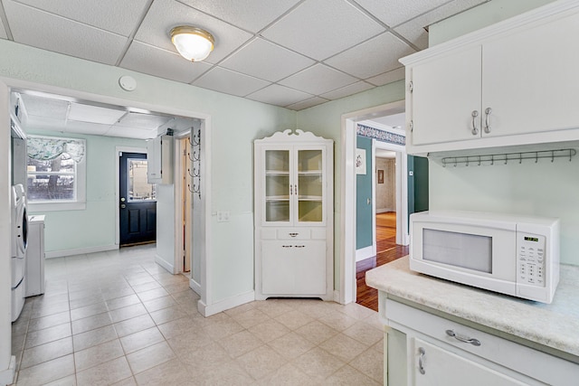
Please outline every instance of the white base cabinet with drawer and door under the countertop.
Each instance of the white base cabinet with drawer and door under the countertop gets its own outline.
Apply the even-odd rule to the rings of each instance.
[[[383,305],[379,312],[389,326],[384,334],[386,384],[566,386],[579,380],[579,364],[530,348],[522,341],[489,334],[462,325],[455,317],[432,315],[392,299],[381,301]]]

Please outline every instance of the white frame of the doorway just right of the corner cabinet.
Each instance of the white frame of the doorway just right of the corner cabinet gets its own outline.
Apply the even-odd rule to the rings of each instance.
[[[335,300],[341,304],[356,302],[356,123],[376,117],[384,117],[403,113],[405,101],[365,108],[342,115],[341,139],[342,139],[342,165],[340,186],[340,234],[345,237],[339,242],[339,291],[335,294]],[[402,183],[407,179],[402,178]],[[407,189],[407,187],[406,187]],[[406,190],[406,200],[407,190]],[[403,205],[402,215],[403,230],[408,229],[408,205]],[[408,244],[408,237],[403,235],[403,244]]]

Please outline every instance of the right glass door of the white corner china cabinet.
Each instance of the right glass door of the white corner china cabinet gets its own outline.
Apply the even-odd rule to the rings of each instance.
[[[321,149],[298,150],[298,221],[324,219],[324,155]]]

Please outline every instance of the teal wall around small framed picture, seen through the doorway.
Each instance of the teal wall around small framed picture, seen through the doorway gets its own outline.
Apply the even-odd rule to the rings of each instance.
[[[374,212],[372,202],[372,175],[374,159],[372,158],[372,138],[356,136],[356,148],[365,150],[365,174],[356,174],[356,249],[372,246]]]

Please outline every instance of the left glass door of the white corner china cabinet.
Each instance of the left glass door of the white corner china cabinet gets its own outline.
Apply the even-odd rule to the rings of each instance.
[[[265,221],[290,220],[289,150],[266,150]]]

